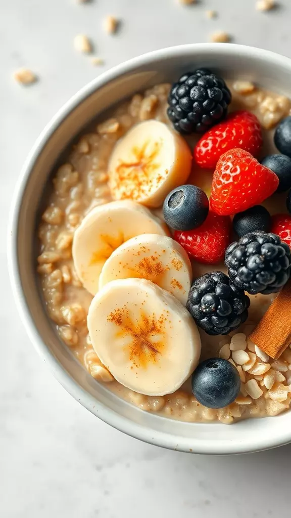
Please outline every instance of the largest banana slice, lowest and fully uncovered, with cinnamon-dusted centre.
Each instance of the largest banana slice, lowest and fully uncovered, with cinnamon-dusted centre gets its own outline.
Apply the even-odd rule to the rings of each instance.
[[[95,295],[88,329],[112,376],[135,392],[171,394],[198,364],[192,316],[171,293],[144,279],[112,281]]]

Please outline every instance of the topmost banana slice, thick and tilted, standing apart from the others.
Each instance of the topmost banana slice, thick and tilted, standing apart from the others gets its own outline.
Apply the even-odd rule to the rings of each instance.
[[[192,154],[179,133],[163,122],[137,124],[119,140],[109,161],[114,199],[133,199],[159,207],[190,175]]]

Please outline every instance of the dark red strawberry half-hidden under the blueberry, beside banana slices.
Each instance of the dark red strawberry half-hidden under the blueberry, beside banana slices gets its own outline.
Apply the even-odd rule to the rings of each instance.
[[[176,231],[174,238],[199,263],[219,263],[230,243],[230,228],[229,217],[210,211],[199,228]]]

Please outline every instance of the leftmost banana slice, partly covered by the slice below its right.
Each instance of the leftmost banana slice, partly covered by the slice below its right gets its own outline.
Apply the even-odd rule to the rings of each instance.
[[[86,290],[95,295],[101,269],[111,253],[127,239],[144,233],[169,234],[165,223],[147,208],[129,200],[91,210],[76,230],[72,243],[74,266]]]

